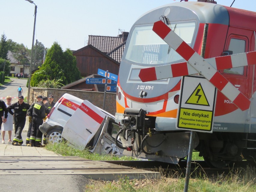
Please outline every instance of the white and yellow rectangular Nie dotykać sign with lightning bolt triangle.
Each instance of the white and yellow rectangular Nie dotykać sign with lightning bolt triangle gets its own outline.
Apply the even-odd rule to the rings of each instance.
[[[212,133],[216,87],[202,76],[183,76],[176,128]]]

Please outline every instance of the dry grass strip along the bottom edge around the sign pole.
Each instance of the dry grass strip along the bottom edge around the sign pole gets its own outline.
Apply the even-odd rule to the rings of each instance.
[[[253,173],[251,175],[251,173]],[[249,177],[247,177],[250,175]],[[237,173],[219,175],[217,178],[205,175],[190,178],[189,192],[255,192],[256,169],[247,167]],[[185,178],[177,174],[156,179],[129,179],[120,178],[117,181],[91,181],[84,191],[94,192],[183,192]]]

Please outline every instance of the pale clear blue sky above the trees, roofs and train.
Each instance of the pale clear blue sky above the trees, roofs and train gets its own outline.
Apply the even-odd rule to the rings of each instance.
[[[78,50],[87,45],[88,35],[117,36],[118,29],[129,32],[140,15],[174,2],[180,0],[34,0],[35,39],[48,48],[57,41],[63,50]],[[226,6],[232,2],[217,0]],[[0,7],[0,35],[5,32],[7,39],[31,48],[35,5],[25,0],[1,0]],[[236,0],[232,7],[256,11],[256,1]]]

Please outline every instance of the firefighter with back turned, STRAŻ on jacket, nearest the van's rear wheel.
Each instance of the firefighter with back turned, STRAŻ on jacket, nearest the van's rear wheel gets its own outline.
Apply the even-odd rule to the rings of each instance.
[[[30,134],[30,147],[43,147],[41,145],[43,133],[39,130],[39,126],[43,124],[45,118],[47,97],[43,97],[43,100],[35,103],[32,112],[32,129]]]

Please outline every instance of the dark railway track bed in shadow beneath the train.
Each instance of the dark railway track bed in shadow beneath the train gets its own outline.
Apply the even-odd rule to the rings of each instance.
[[[161,172],[163,175],[168,176],[172,174],[178,174],[185,176],[187,161],[181,161],[178,165],[163,163],[158,161],[105,161],[108,163],[130,166],[134,168],[144,169],[148,171]],[[231,166],[232,165],[232,166]],[[229,174],[231,172],[237,173],[245,170],[248,166],[256,167],[255,162],[240,161],[235,163],[230,163],[229,167],[225,168],[212,168],[209,167],[205,161],[192,161],[190,173],[192,175],[221,175]]]

